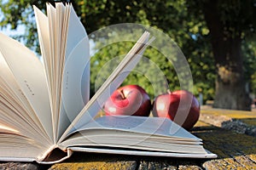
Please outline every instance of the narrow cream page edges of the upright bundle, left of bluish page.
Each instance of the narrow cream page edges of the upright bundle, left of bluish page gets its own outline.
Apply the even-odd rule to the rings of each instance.
[[[68,122],[60,122],[61,116],[61,83],[63,75],[63,65],[65,62],[65,48],[62,44],[67,39],[62,39],[63,34],[67,34],[63,30],[64,17],[66,14],[65,6],[62,3],[55,3],[55,8],[48,3],[47,15],[49,21],[49,37],[51,45],[51,61],[52,61],[52,114],[55,120],[55,140],[59,133],[59,126],[66,126]],[[66,30],[67,31],[67,30]]]

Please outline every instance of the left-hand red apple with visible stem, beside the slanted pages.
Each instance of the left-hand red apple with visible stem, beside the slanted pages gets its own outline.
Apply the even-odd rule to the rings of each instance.
[[[103,109],[107,116],[148,116],[151,101],[140,86],[126,85],[113,92]]]

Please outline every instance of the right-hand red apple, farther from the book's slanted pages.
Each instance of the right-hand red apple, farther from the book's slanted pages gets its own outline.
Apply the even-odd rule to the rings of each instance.
[[[167,117],[187,130],[198,121],[200,105],[193,94],[177,90],[161,94],[154,99],[153,116]]]

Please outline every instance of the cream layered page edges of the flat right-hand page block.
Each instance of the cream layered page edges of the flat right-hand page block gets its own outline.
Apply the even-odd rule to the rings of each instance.
[[[98,132],[100,133],[100,131]],[[85,134],[86,135],[86,134]],[[86,140],[87,139],[87,140]],[[193,153],[193,154],[206,154],[201,144],[175,144],[166,143],[159,140],[141,139],[141,138],[130,138],[129,135],[116,135],[116,136],[86,136],[86,138],[79,137],[73,140],[67,140],[63,142],[67,147],[80,146],[80,147],[113,147],[113,150],[131,149],[131,150],[150,150],[150,151],[162,151],[162,152],[173,152],[173,153]]]

